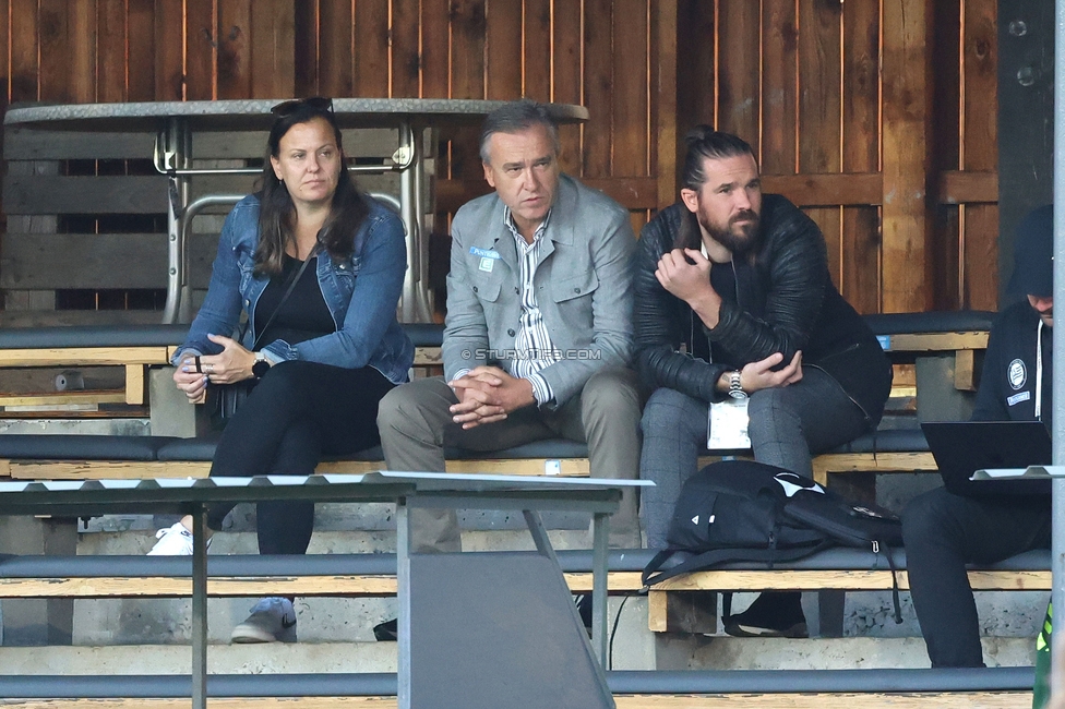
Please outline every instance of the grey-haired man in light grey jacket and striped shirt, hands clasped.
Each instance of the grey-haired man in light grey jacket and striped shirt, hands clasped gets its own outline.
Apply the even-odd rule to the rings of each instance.
[[[493,194],[452,221],[444,378],[381,401],[391,470],[442,471],[444,446],[499,450],[549,437],[587,442],[591,474],[639,472],[639,394],[632,350],[629,213],[559,168],[542,105],[507,104],[481,133]],[[460,551],[454,510],[411,509],[411,551]],[[610,524],[614,546],[641,545],[635,496]]]

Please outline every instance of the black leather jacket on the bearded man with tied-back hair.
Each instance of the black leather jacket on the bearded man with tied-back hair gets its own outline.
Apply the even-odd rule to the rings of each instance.
[[[762,197],[761,243],[731,264],[715,264],[720,321],[708,329],[687,303],[655,278],[672,250],[683,204],[663,209],[641,232],[633,255],[635,359],[644,383],[713,401],[721,373],[774,352],[831,375],[876,428],[892,389],[892,364],[869,325],[836,290],[821,230],[777,194]]]

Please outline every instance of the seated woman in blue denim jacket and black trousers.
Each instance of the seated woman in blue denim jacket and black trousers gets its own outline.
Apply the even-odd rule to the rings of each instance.
[[[332,100],[273,112],[262,191],[229,213],[207,297],[173,358],[173,381],[193,402],[212,385],[258,380],[223,431],[212,476],[306,476],[323,454],[378,445],[378,402],[414,360],[396,321],[403,224],[344,169]],[[241,313],[238,341],[228,335]],[[211,508],[208,527],[231,507]],[[313,522],[313,503],[259,503],[260,553],[304,553]],[[149,553],[191,554],[191,525],[161,530]],[[295,641],[291,599],[260,601],[231,640]]]

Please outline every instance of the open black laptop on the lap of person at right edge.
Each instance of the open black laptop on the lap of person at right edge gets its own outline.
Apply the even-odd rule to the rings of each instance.
[[[1050,480],[979,480],[989,468],[1050,465],[1050,431],[1039,421],[936,421],[921,424],[944,486],[967,497],[1050,495]]]

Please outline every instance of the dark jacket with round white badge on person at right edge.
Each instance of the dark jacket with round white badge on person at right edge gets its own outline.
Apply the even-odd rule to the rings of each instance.
[[[1036,334],[1039,315],[1028,301],[1000,313],[988,338],[973,421],[1036,420]],[[1051,423],[1054,390],[1052,327],[1043,327],[1043,384],[1040,420]]]

